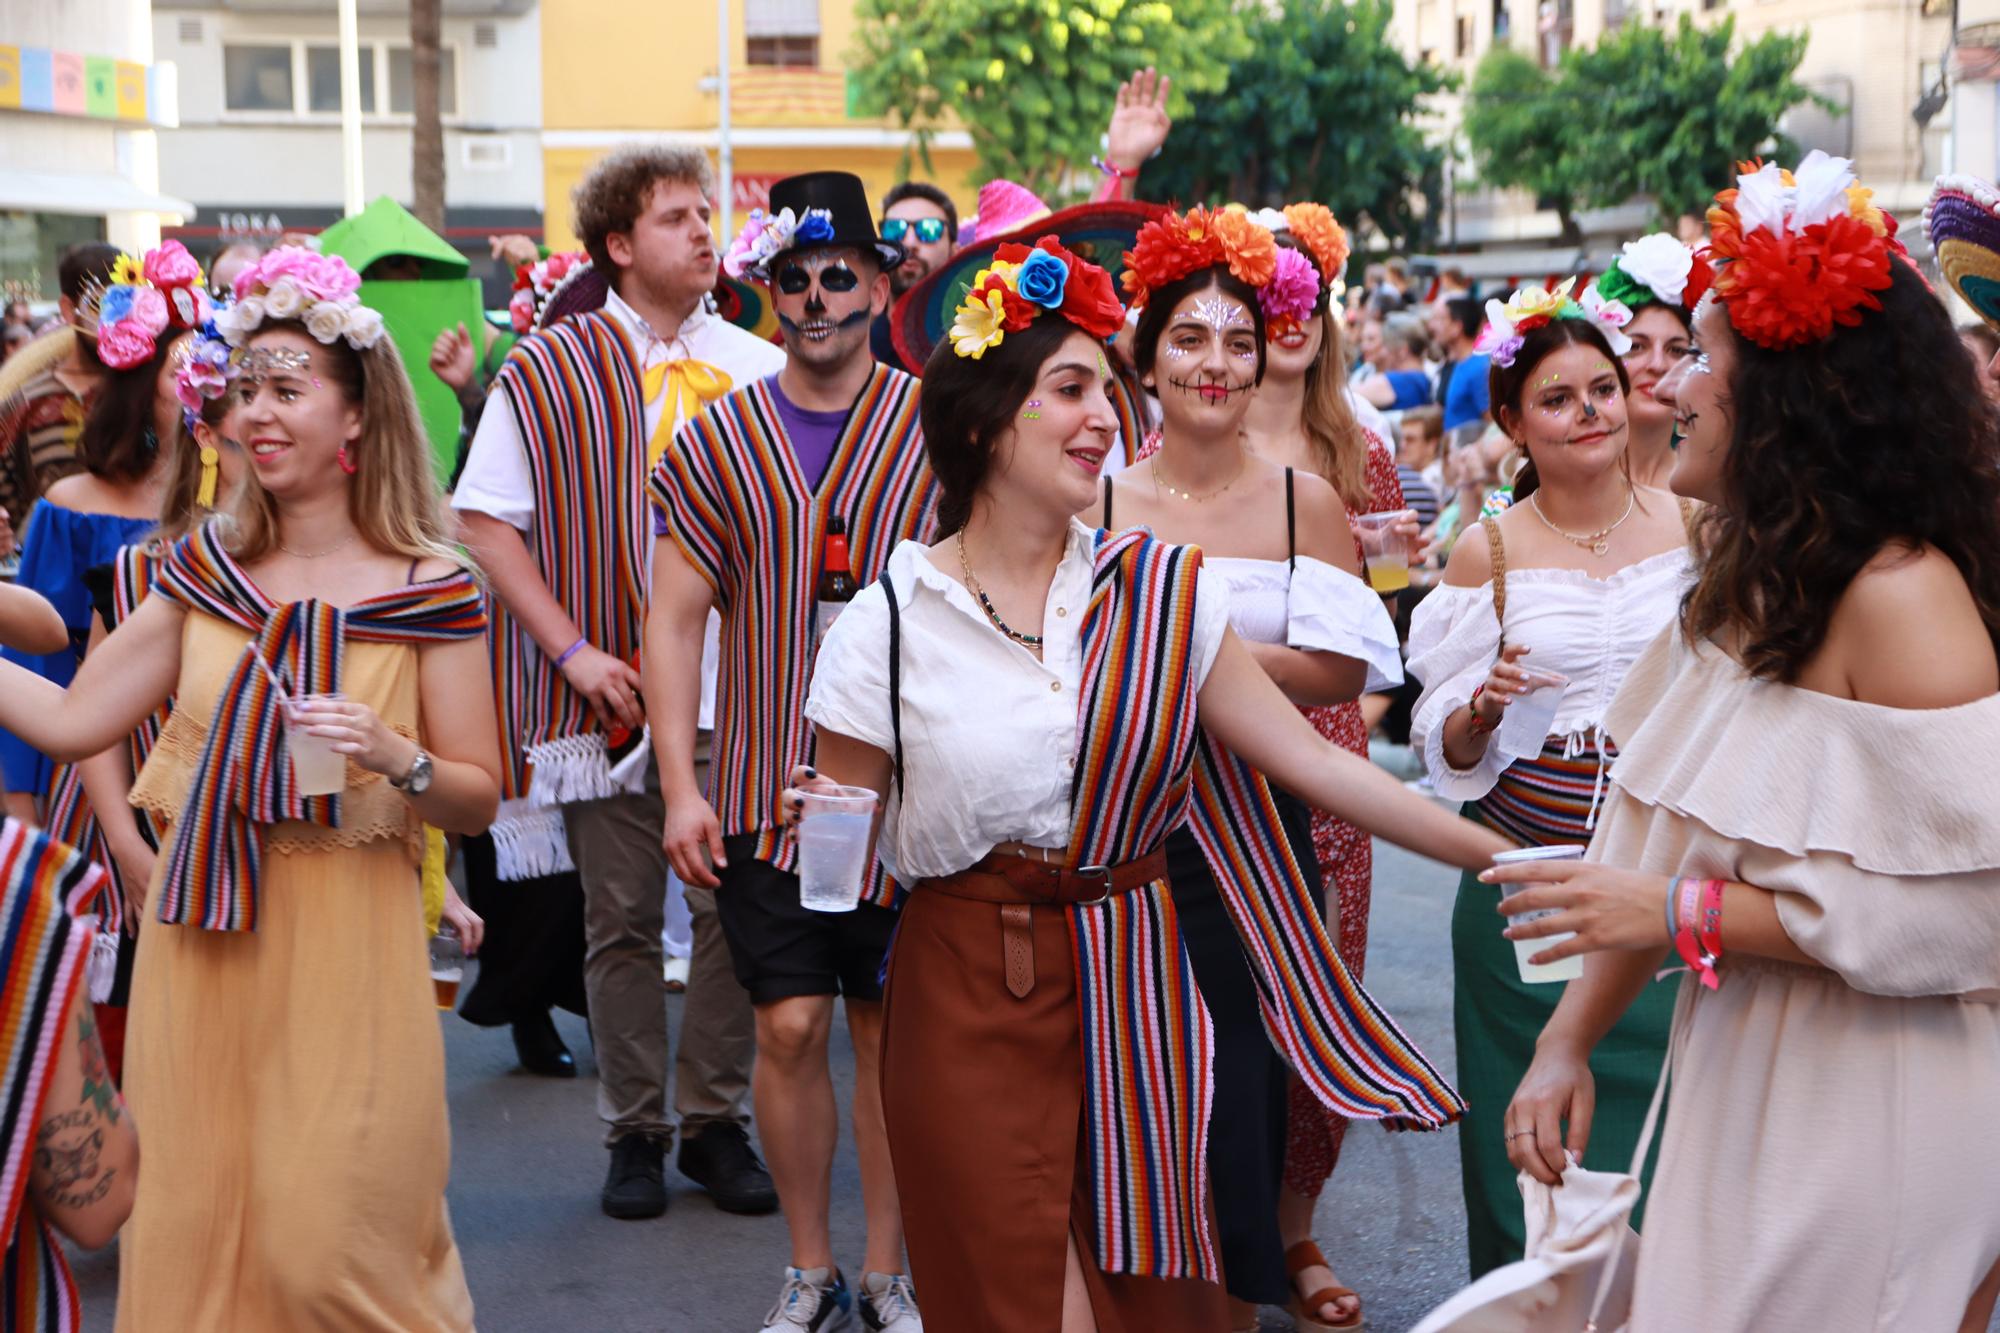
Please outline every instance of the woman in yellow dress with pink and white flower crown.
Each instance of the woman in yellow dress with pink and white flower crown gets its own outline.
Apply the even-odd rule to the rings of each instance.
[[[0,725],[56,755],[174,701],[130,797],[166,847],[126,1051],[162,1145],[126,1329],[472,1327],[418,863],[424,823],[478,833],[498,805],[492,705],[464,691],[486,614],[358,286],[296,248],[236,278],[216,322],[254,482],[68,691],[0,664]]]

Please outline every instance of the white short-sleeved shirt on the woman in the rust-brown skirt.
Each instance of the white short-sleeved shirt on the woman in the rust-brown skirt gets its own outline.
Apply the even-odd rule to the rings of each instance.
[[[902,747],[908,787],[888,793],[882,865],[902,883],[956,875],[1000,843],[1070,845],[1070,779],[1084,677],[1092,532],[1070,520],[1070,546],[1048,584],[1042,658],[986,618],[922,542],[888,560],[902,610]],[[1214,666],[1228,592],[1204,568],[1194,594],[1194,681]],[[806,697],[824,731],[896,753],[888,691],[888,598],[862,588],[828,630]]]

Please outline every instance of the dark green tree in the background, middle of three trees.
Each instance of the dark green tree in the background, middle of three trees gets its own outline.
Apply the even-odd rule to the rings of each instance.
[[[1444,178],[1444,150],[1424,142],[1418,102],[1450,76],[1396,50],[1392,12],[1390,0],[1248,10],[1250,52],[1230,66],[1226,90],[1174,124],[1140,190],[1252,208],[1310,198],[1346,222],[1366,216],[1396,246],[1418,242]]]

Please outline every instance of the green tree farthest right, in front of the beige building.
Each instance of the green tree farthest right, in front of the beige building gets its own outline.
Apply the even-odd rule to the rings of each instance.
[[[1564,218],[1650,196],[1664,218],[1700,212],[1730,166],[1796,146],[1778,128],[1802,102],[1806,34],[1768,32],[1734,56],[1736,20],[1672,32],[1628,24],[1594,50],[1572,50],[1548,74],[1498,48],[1480,62],[1466,106],[1466,142],[1480,178],[1532,190]]]

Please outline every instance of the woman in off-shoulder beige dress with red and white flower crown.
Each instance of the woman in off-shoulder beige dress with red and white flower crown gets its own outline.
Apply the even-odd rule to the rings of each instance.
[[[1850,164],[1740,170],[1658,390],[1696,582],[1608,715],[1588,863],[1508,899],[1586,957],[1508,1147],[1542,1181],[1602,1155],[1592,1049],[1678,955],[1632,1333],[1986,1329],[2000,783],[1940,761],[2000,749],[2000,430]]]

